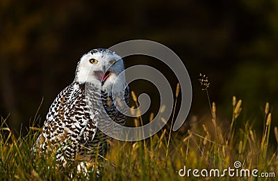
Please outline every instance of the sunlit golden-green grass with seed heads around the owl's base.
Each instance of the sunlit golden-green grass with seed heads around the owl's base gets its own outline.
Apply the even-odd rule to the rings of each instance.
[[[269,104],[265,104],[265,120],[261,120],[263,130],[254,130],[249,121],[243,127],[235,127],[243,109],[241,103],[242,100],[232,98],[233,112],[229,127],[219,124],[221,120],[217,120],[216,104],[212,102],[211,121],[192,123],[195,125],[186,134],[172,132],[170,135],[170,127],[167,127],[145,141],[108,141],[110,146],[106,159],[97,165],[101,173],[99,179],[183,180],[179,175],[183,166],[199,170],[218,168],[222,171],[228,167],[234,168],[236,161],[242,164],[240,168],[256,168],[259,173],[278,173],[278,148],[273,149],[269,142],[270,137],[275,137],[278,143],[278,131],[275,127],[275,135],[270,134],[272,117]],[[140,125],[142,118],[136,119]],[[2,118],[0,127],[1,180],[65,180],[69,178],[69,173],[75,180],[85,179],[74,166],[66,171],[55,166],[55,153],[36,155],[31,152],[40,133],[38,130],[31,129],[26,136],[15,136],[6,121]],[[263,136],[259,138],[256,132],[261,131]],[[225,177],[229,178],[227,175]],[[95,172],[87,175],[87,178],[95,180]],[[190,178],[193,178],[192,174]]]

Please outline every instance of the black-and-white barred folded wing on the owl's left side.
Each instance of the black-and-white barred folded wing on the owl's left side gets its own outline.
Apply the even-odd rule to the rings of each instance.
[[[95,136],[93,119],[85,101],[85,85],[72,83],[51,104],[37,147],[46,150],[58,145],[56,159],[60,162],[65,158],[73,160],[84,143],[84,130],[90,130],[92,138]]]

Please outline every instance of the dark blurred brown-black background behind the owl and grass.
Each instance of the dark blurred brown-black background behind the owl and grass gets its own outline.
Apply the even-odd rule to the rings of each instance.
[[[262,127],[264,105],[270,102],[272,123],[277,125],[275,0],[1,0],[0,115],[10,114],[8,125],[24,131],[43,97],[36,123],[42,126],[51,102],[73,81],[82,54],[133,39],[160,42],[183,60],[193,84],[188,120],[210,119],[206,93],[197,80],[202,72],[211,82],[208,91],[223,123],[231,120],[231,97],[236,95],[243,99],[241,120]],[[126,67],[148,62],[138,56],[126,61]],[[169,76],[175,89],[177,80]],[[131,84],[138,94],[152,89],[140,82]]]

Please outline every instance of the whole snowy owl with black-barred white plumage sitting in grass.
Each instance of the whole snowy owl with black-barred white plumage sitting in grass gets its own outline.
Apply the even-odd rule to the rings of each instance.
[[[90,162],[96,152],[104,156],[108,136],[99,125],[117,132],[110,121],[124,125],[126,120],[127,110],[121,102],[129,104],[129,88],[124,76],[116,79],[122,71],[122,58],[115,52],[93,49],[84,54],[74,82],[51,104],[35,148],[56,150],[56,159],[63,166],[76,159]]]

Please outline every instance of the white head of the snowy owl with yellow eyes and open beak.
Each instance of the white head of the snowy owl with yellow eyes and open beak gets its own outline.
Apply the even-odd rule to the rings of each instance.
[[[111,87],[116,77],[124,71],[122,58],[109,49],[92,49],[84,54],[76,68],[74,81],[80,84],[90,82],[103,87]],[[118,81],[125,83],[124,76]]]

